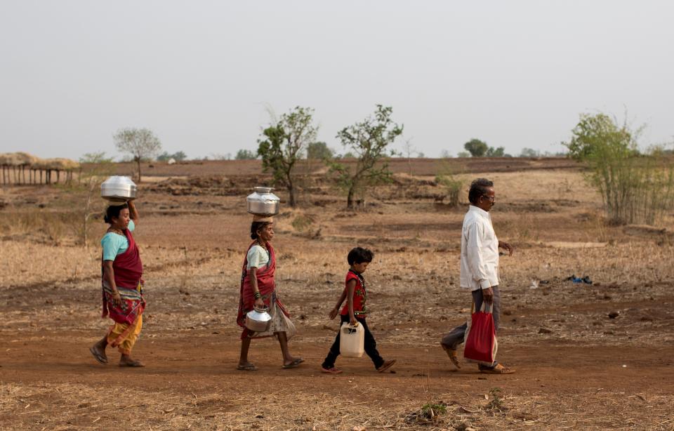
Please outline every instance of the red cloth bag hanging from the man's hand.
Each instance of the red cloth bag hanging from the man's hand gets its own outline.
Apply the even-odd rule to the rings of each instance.
[[[491,304],[482,304],[482,309],[474,312],[468,321],[466,329],[463,357],[468,362],[478,364],[494,364],[498,343],[494,330],[494,316],[491,314]]]

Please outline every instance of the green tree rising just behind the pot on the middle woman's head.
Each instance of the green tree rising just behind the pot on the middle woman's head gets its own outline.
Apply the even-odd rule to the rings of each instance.
[[[258,155],[265,172],[271,172],[275,185],[288,190],[290,206],[296,206],[296,184],[293,170],[303,151],[315,142],[318,127],[313,125],[313,110],[295,107],[283,114],[276,124],[265,128],[258,140]]]

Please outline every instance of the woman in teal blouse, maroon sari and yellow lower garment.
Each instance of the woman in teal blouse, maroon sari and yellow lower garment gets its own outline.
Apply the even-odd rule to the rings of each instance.
[[[140,361],[131,359],[131,349],[143,328],[145,309],[143,263],[131,234],[138,224],[138,211],[133,201],[109,206],[105,213],[105,223],[110,223],[110,227],[100,241],[103,246],[102,317],[110,316],[114,324],[89,351],[98,362],[107,364],[105,347],[110,344],[121,353],[119,366],[143,366]]]

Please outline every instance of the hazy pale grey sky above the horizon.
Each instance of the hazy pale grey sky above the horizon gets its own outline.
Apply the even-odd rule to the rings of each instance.
[[[117,155],[128,126],[233,154],[256,148],[267,105],[315,108],[343,152],[338,129],[377,103],[428,157],[470,138],[559,151],[597,111],[670,142],[673,17],[648,0],[3,0],[0,152]]]

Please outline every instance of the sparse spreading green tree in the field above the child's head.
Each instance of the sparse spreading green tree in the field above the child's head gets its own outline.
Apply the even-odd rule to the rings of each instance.
[[[348,208],[353,207],[353,197],[359,187],[390,180],[391,172],[385,157],[395,155],[395,151],[388,148],[402,134],[403,128],[392,121],[392,112],[392,107],[377,105],[374,117],[367,117],[337,133],[342,145],[356,158],[355,166],[337,161],[331,164],[331,172],[337,173],[339,183],[348,190]]]

